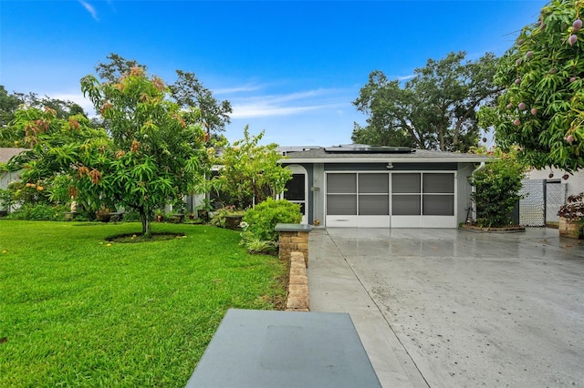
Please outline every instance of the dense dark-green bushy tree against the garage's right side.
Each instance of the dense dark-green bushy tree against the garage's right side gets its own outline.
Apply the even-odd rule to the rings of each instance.
[[[484,168],[478,168],[469,178],[474,186],[471,195],[476,204],[476,223],[480,227],[505,227],[511,224],[511,212],[521,199],[519,190],[527,171],[526,165],[517,159],[517,151],[500,148],[487,151],[473,148],[477,154],[494,157]]]

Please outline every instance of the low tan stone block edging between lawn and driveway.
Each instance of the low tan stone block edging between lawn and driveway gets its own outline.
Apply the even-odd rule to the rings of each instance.
[[[302,252],[290,252],[286,311],[310,311],[307,263]]]

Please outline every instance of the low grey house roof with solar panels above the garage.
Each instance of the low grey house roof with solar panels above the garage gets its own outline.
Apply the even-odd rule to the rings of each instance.
[[[490,160],[485,155],[455,152],[431,151],[402,147],[368,147],[346,145],[327,148],[310,148],[301,151],[288,151],[285,163],[480,163]]]

